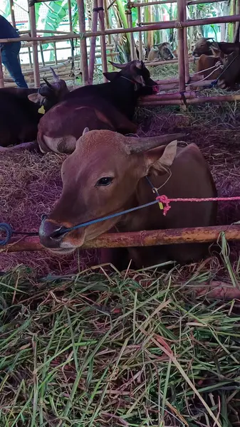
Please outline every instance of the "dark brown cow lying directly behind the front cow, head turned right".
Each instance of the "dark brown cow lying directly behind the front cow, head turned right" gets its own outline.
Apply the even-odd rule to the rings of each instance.
[[[86,126],[122,134],[136,132],[131,120],[137,98],[151,94],[156,83],[140,60],[114,65],[121,70],[105,73],[110,83],[75,89],[43,116],[38,127],[41,152],[73,152]]]

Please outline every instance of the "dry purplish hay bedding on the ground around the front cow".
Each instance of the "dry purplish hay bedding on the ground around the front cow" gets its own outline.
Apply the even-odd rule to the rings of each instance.
[[[202,149],[216,182],[219,196],[240,196],[240,112],[224,108],[190,107],[179,112],[177,107],[161,110],[142,109],[140,136],[160,135],[184,131],[188,143],[195,142]],[[64,156],[16,152],[0,158],[1,221],[15,230],[38,231],[42,214],[48,214],[61,194],[61,163]],[[239,221],[240,203],[221,202],[218,222]],[[238,246],[234,245],[237,255]],[[77,273],[96,263],[95,251],[76,251],[59,257],[46,251],[35,253],[2,253],[0,270],[7,271],[24,264],[36,274]]]

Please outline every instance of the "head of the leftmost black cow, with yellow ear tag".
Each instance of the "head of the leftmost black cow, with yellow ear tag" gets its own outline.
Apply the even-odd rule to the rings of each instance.
[[[53,83],[49,83],[46,78],[43,78],[45,83],[41,84],[38,93],[28,95],[29,100],[36,102],[40,107],[43,105],[45,111],[50,110],[53,105],[60,102],[69,92],[66,82],[56,75],[53,68],[51,68],[51,72],[53,74]]]

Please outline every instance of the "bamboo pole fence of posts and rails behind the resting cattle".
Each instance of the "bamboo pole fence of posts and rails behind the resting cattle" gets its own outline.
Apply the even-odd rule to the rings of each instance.
[[[40,0],[39,0],[40,1]],[[48,0],[44,0],[48,1]],[[76,0],[78,4],[78,15],[79,15],[79,33],[73,33],[72,19],[71,19],[71,0],[68,0],[68,18],[70,22],[70,31],[55,31],[54,36],[43,36],[37,37],[38,33],[48,33],[45,30],[37,30],[36,29],[36,16],[35,16],[35,6],[31,6],[29,8],[29,21],[30,21],[30,30],[31,36],[29,34],[23,34],[21,36],[21,41],[31,42],[33,47],[33,75],[34,75],[34,84],[36,87],[40,84],[40,72],[39,63],[38,63],[38,44],[40,45],[40,53],[42,58],[43,67],[45,65],[43,60],[43,50],[41,47],[41,43],[43,42],[53,42],[63,40],[73,40],[77,39],[80,41],[80,61],[81,61],[81,73],[83,76],[83,85],[93,83],[93,73],[95,66],[95,44],[96,38],[100,37],[100,48],[101,48],[101,58],[102,58],[102,68],[103,71],[108,70],[108,62],[107,62],[107,53],[106,53],[106,36],[108,36],[108,41],[110,41],[110,37],[112,34],[118,33],[130,33],[130,52],[131,59],[135,59],[136,51],[135,51],[135,41],[133,38],[133,33],[139,33],[139,52],[140,59],[142,58],[142,32],[144,31],[155,31],[162,30],[166,28],[177,28],[177,38],[178,38],[178,58],[177,60],[171,61],[156,61],[152,63],[147,63],[147,65],[165,65],[167,63],[178,63],[179,65],[179,94],[181,93],[181,99],[179,99],[179,94],[177,97],[172,94],[169,96],[169,99],[162,98],[162,94],[158,95],[159,97],[156,100],[155,95],[151,97],[147,97],[146,100],[141,100],[141,104],[145,102],[145,105],[165,105],[169,102],[170,105],[184,105],[192,104],[192,103],[201,103],[201,102],[217,102],[216,98],[218,98],[219,102],[226,100],[236,100],[236,97],[232,97],[234,95],[219,95],[218,97],[209,97],[206,100],[206,97],[195,96],[188,97],[188,90],[186,88],[186,83],[191,82],[192,78],[189,75],[189,60],[187,55],[187,27],[189,26],[202,26],[211,23],[236,23],[240,21],[240,0],[236,0],[236,7],[234,11],[236,14],[232,16],[220,16],[206,19],[186,19],[186,8],[189,4],[198,4],[198,3],[214,3],[216,1],[224,1],[224,0],[156,0],[150,2],[137,2],[137,1],[129,1],[127,4],[127,23],[128,28],[105,28],[105,22],[108,23],[108,8],[105,7],[105,1],[103,0],[94,0],[94,11],[93,11],[93,26],[92,31],[85,30],[85,10],[84,10],[84,1]],[[176,3],[177,2],[177,21],[160,21],[160,22],[141,22],[141,8],[151,6],[154,4],[165,4],[165,3]],[[14,8],[13,0],[9,0],[9,5],[11,7],[11,19],[12,23],[15,25],[15,16],[14,16]],[[138,16],[138,26],[132,27],[132,8],[137,9]],[[104,11],[105,9],[105,11]],[[105,15],[104,15],[105,14]],[[105,19],[104,19],[105,17]],[[98,21],[99,21],[99,29],[98,29]],[[109,24],[107,25],[107,27]],[[50,32],[50,31],[49,31]],[[87,39],[91,38],[90,41],[90,58],[88,64],[88,51],[87,51]],[[19,41],[18,39],[0,39],[0,43],[11,43]],[[56,44],[54,46],[54,50],[56,52]],[[113,56],[113,53],[111,53]],[[30,60],[31,63],[31,60]],[[199,79],[201,80],[201,79]],[[204,85],[204,84],[203,84]],[[201,85],[200,85],[201,86]],[[0,61],[0,87],[4,87],[4,78],[2,75],[1,61]],[[167,82],[166,82],[167,88]],[[238,100],[238,99],[237,99]],[[163,104],[162,104],[163,102]]]

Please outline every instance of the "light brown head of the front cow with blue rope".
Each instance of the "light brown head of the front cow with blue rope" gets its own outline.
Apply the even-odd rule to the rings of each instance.
[[[63,162],[61,198],[39,230],[43,246],[57,252],[72,252],[119,221],[125,221],[126,216],[111,218],[64,234],[66,227],[135,205],[140,179],[150,170],[166,173],[174,161],[176,139],[181,136],[135,138],[110,130],[85,130],[73,154]],[[63,232],[60,236],[59,230]]]

